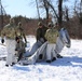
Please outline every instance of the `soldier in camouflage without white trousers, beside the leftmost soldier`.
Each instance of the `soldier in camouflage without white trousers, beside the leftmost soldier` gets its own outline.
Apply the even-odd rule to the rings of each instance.
[[[23,39],[25,39],[25,43],[24,43]],[[25,53],[25,48],[27,45],[26,35],[24,32],[20,22],[18,23],[18,26],[16,28],[16,39],[15,40],[16,40],[15,51],[17,52],[17,56],[18,56],[17,62],[19,62],[20,58],[23,57],[23,54]]]

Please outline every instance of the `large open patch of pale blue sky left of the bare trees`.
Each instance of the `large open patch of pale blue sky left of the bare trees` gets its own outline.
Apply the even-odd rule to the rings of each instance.
[[[1,0],[6,14],[38,17],[35,0]]]

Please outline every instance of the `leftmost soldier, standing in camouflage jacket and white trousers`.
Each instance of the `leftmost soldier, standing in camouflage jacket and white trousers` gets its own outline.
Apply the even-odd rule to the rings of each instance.
[[[2,40],[1,42],[4,43],[4,37],[5,37],[5,44],[6,44],[6,50],[8,50],[8,56],[6,56],[6,64],[5,66],[8,67],[9,65],[13,66],[16,60],[14,58],[15,54],[15,23],[14,18],[10,18],[10,23],[5,25],[1,31],[1,37]]]

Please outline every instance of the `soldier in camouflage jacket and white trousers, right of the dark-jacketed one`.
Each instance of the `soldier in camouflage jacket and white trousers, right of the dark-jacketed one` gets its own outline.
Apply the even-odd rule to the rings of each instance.
[[[56,60],[56,52],[55,52],[55,46],[56,46],[56,40],[58,37],[58,30],[54,28],[53,24],[49,24],[49,29],[45,32],[45,38],[47,40],[47,46],[46,46],[46,63],[51,63],[53,60]]]

